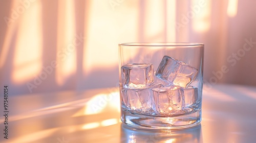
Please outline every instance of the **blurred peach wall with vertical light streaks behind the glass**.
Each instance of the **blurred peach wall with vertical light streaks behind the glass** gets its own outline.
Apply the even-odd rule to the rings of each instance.
[[[0,85],[12,95],[115,87],[118,43],[179,41],[205,44],[205,89],[219,83],[256,86],[255,5],[1,0]]]

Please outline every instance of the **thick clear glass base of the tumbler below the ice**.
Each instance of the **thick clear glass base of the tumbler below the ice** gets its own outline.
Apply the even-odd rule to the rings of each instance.
[[[199,125],[201,109],[176,116],[145,115],[122,109],[121,121],[139,130],[180,130]]]

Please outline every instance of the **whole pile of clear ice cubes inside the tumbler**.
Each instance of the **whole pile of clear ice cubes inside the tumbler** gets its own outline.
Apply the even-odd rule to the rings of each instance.
[[[164,56],[154,75],[151,63],[121,67],[121,97],[127,110],[154,114],[180,114],[196,104],[198,89],[190,84],[197,69]]]

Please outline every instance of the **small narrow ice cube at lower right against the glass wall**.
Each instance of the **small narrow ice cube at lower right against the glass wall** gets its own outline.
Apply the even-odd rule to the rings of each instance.
[[[185,100],[185,107],[196,105],[198,100],[198,88],[193,86],[185,88],[184,100]]]

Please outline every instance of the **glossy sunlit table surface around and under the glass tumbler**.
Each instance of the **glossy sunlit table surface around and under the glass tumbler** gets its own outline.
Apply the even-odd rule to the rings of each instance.
[[[8,139],[2,115],[0,142],[256,142],[256,87],[203,90],[201,125],[167,133],[127,127],[119,106],[117,88],[9,95]]]

